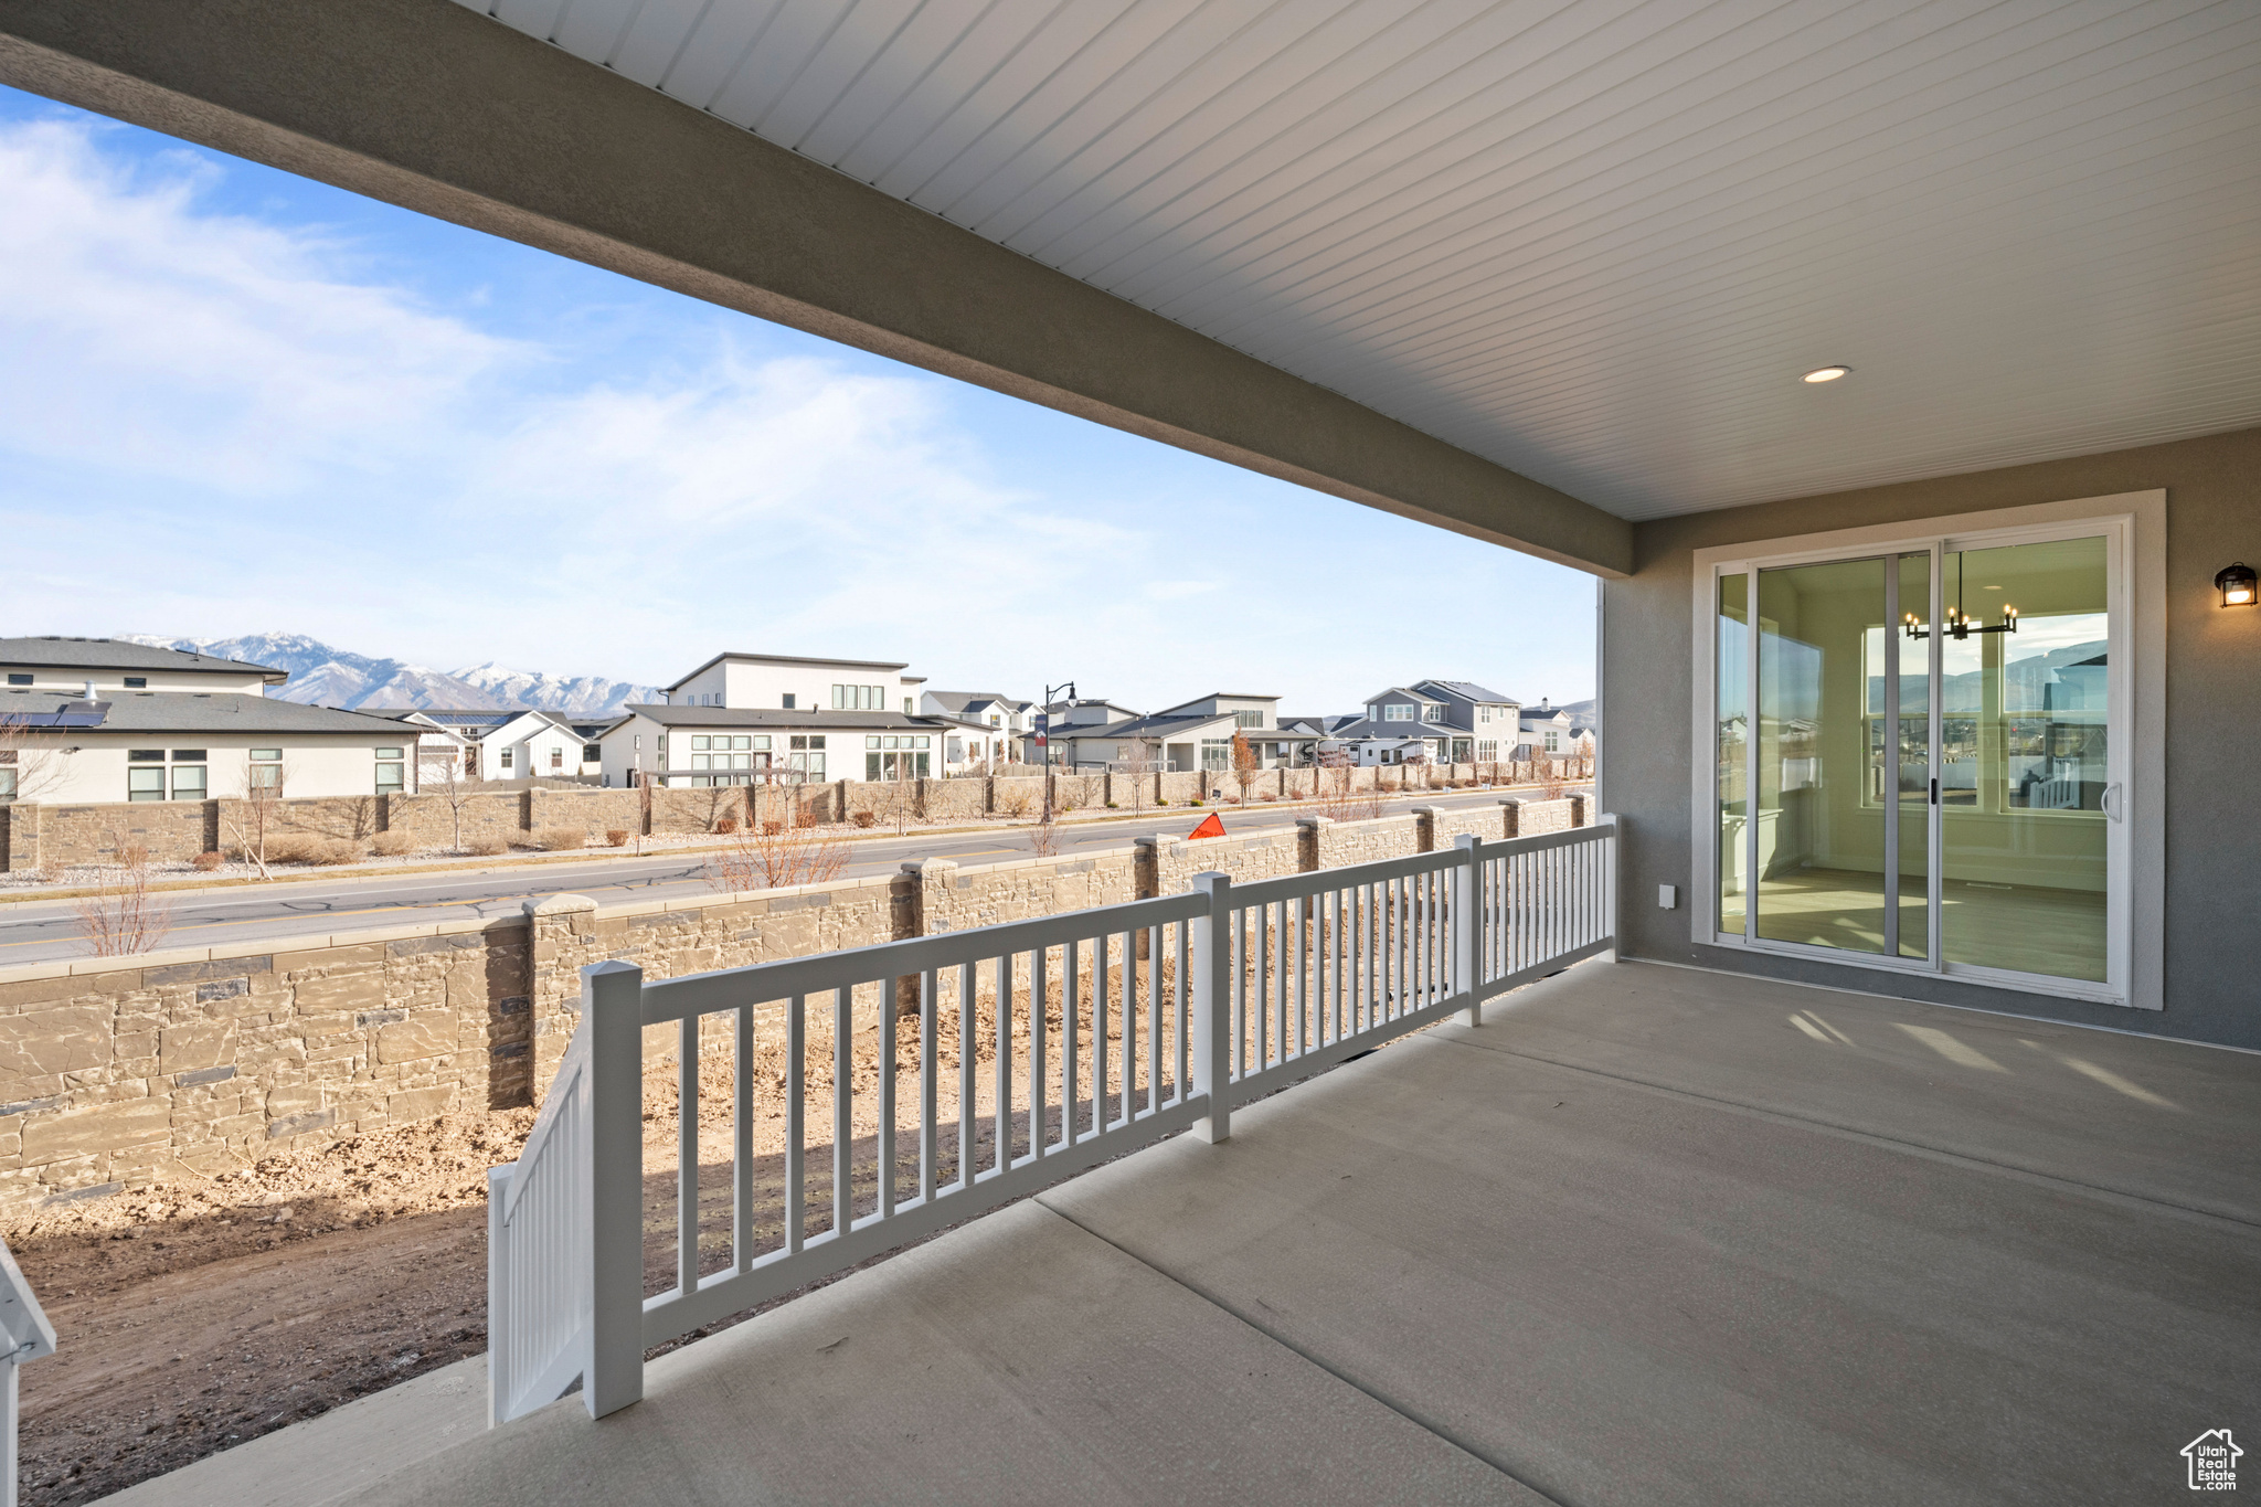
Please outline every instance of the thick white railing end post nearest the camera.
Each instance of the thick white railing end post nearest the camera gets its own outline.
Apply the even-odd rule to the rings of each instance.
[[[588,1417],[644,1396],[644,969],[581,969],[588,1039]]]

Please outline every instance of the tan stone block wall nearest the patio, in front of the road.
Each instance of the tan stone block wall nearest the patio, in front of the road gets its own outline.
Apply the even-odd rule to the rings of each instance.
[[[545,809],[574,798],[540,793]],[[1461,831],[1499,838],[1585,820],[1580,800],[1370,822],[1311,816],[1291,831],[1151,836],[981,865],[927,859],[739,897],[599,908],[556,895],[495,922],[0,967],[0,1209],[145,1186],[174,1164],[215,1173],[310,1136],[529,1103],[572,1035],[579,969],[606,958],[676,978],[1171,895],[1203,870],[1266,879],[1447,847]]]

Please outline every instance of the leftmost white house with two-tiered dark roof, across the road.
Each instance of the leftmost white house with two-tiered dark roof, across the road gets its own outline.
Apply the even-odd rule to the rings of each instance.
[[[384,795],[414,789],[416,730],[271,700],[289,678],[118,639],[0,639],[0,802]]]

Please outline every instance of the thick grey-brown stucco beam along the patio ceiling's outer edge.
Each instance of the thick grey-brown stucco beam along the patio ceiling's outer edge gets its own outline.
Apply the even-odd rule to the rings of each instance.
[[[0,0],[0,81],[1526,554],[1621,517],[450,0]]]

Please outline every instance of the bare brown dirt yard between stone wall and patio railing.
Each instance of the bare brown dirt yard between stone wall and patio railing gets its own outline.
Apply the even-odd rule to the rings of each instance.
[[[1144,976],[1144,967],[1140,974]],[[1164,974],[1173,969],[1164,967]],[[1119,974],[1117,974],[1119,978]],[[1092,1042],[1090,974],[1076,1012]],[[852,1204],[877,1200],[880,1001],[864,1003],[852,1035]],[[1049,990],[1047,1053],[1058,1082],[1063,1001]],[[1119,1001],[1110,1001],[1119,1003]],[[977,1008],[988,1039],[993,1001]],[[1110,1010],[1110,1017],[1115,1010]],[[1029,994],[1015,992],[1015,1103],[1026,1105]],[[941,1012],[936,1057],[945,1121],[956,1118],[959,1021],[954,994]],[[1110,1100],[1121,1091],[1119,1017],[1110,1021]],[[1142,1033],[1142,1028],[1135,1028]],[[757,1037],[755,1234],[782,1238],[785,1055],[780,1033]],[[918,1021],[895,1023],[900,1116],[916,1100]],[[1144,1037],[1140,1035],[1144,1048]],[[807,1035],[807,1234],[830,1227],[832,1037]],[[1169,1053],[1164,1051],[1164,1060]],[[703,1053],[701,1268],[730,1261],[730,1053]],[[995,1105],[995,1053],[977,1051],[977,1114]],[[1090,1075],[1076,1116],[1090,1123]],[[1144,1073],[1137,1073],[1144,1084]],[[278,1155],[217,1179],[181,1175],[149,1193],[59,1204],[0,1222],[32,1290],[54,1322],[59,1351],[23,1371],[23,1500],[90,1502],[244,1439],[310,1419],[364,1392],[486,1349],[486,1168],[516,1161],[534,1109],[450,1114],[337,1146]],[[1060,1132],[1054,1105],[1049,1134]],[[904,1123],[904,1121],[898,1121]],[[904,1123],[904,1130],[909,1125]],[[1026,1150],[1026,1121],[1013,1136]],[[898,1188],[916,1186],[916,1134],[898,1143]],[[647,1290],[674,1281],[676,1073],[653,1062],[644,1078]],[[974,1166],[995,1155],[993,1123],[974,1134]],[[938,1170],[956,1173],[945,1125]],[[782,1299],[780,1299],[782,1301]],[[737,1319],[733,1319],[737,1322]],[[710,1331],[701,1331],[710,1333]],[[696,1338],[696,1335],[692,1335]]]

